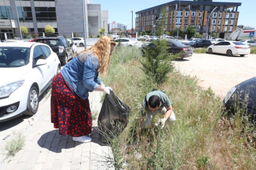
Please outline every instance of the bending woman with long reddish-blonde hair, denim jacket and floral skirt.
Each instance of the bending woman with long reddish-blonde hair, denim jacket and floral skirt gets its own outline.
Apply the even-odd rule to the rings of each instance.
[[[51,122],[59,134],[70,135],[78,142],[90,142],[92,114],[88,92],[104,91],[109,87],[99,79],[106,75],[116,43],[111,37],[101,37],[91,48],[76,53],[52,81]]]

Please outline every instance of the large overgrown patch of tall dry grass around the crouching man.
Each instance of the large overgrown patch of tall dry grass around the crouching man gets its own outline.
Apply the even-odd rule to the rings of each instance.
[[[141,60],[137,48],[116,49],[108,76],[102,79],[131,108],[128,126],[111,141],[116,169],[254,169],[255,145],[244,144],[248,140],[241,126],[231,129],[221,119],[221,98],[178,71],[158,86],[143,73]],[[166,92],[177,120],[162,131],[150,128],[138,142],[140,107],[153,88]]]

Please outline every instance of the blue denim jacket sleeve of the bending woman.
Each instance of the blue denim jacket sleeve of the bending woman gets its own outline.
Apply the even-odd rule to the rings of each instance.
[[[86,62],[83,63],[83,86],[89,91],[94,91],[94,89],[99,88],[99,84],[94,81],[95,74],[99,67],[99,62],[97,59],[93,59],[93,55],[87,58]],[[97,79],[99,79],[97,77]]]

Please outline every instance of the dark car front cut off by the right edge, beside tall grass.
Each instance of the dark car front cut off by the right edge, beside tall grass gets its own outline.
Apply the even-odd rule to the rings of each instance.
[[[241,82],[231,88],[226,95],[223,104],[228,110],[229,116],[235,115],[239,110],[250,115],[256,120],[256,77]]]

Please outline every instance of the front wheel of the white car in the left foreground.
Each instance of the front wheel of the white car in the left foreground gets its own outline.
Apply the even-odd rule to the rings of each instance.
[[[25,115],[35,115],[39,108],[39,93],[35,86],[30,88],[28,93],[28,101],[27,101],[27,113]]]

